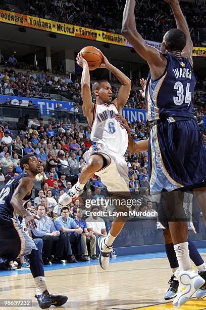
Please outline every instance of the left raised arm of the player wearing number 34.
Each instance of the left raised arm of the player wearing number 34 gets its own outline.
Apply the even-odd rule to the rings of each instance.
[[[135,0],[127,0],[122,21],[122,34],[132,44],[135,51],[145,59],[148,64],[158,66],[165,65],[165,59],[160,52],[151,46],[148,46],[142,36],[136,29],[135,15]],[[143,14],[139,12],[139,14]]]

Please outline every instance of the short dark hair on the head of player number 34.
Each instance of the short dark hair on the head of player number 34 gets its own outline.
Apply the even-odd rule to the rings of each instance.
[[[186,45],[187,39],[182,30],[173,28],[166,32],[165,42],[169,44],[171,50],[182,51]]]

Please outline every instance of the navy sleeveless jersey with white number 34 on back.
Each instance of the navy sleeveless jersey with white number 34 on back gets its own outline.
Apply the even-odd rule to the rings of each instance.
[[[171,121],[192,118],[192,100],[195,87],[193,69],[186,58],[167,53],[163,75],[152,81],[149,72],[145,91],[148,121],[170,118]]]

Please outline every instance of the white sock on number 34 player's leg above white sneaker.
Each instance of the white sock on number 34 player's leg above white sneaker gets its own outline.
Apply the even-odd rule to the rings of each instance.
[[[174,245],[174,250],[177,256],[180,271],[191,269],[188,242]]]

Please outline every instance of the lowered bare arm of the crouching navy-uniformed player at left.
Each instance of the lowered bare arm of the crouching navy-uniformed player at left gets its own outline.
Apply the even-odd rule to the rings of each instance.
[[[12,199],[11,205],[14,210],[25,219],[25,224],[31,225],[31,228],[36,228],[36,224],[34,219],[38,219],[35,216],[31,215],[23,206],[22,200],[26,195],[28,195],[33,188],[33,181],[30,177],[22,178],[19,181],[19,185],[17,186]]]

